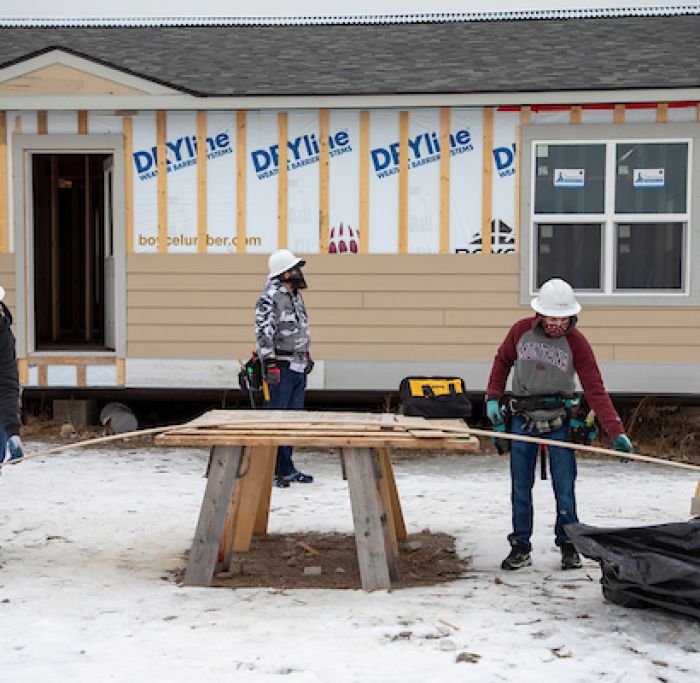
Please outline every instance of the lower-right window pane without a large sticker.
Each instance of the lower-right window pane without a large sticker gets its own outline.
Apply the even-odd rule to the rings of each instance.
[[[683,289],[683,223],[619,223],[617,289]]]

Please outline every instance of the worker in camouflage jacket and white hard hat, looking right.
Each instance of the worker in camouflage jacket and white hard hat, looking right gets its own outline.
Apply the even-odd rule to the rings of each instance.
[[[278,249],[268,259],[265,287],[255,305],[255,340],[262,362],[263,380],[269,389],[265,407],[302,410],[306,376],[314,363],[309,355],[309,319],[300,290],[306,289],[301,271],[306,261],[287,249]],[[292,459],[292,447],[277,449],[276,486],[291,482],[308,484],[309,474],[299,472]]]

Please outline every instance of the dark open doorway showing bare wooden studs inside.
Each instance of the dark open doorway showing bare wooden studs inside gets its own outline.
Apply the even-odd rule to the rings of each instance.
[[[33,154],[37,351],[114,349],[111,154]]]

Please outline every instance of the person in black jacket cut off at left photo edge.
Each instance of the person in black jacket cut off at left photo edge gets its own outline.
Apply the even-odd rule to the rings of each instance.
[[[20,437],[19,374],[12,314],[5,305],[5,290],[0,287],[0,461],[6,451],[10,461],[24,456]]]

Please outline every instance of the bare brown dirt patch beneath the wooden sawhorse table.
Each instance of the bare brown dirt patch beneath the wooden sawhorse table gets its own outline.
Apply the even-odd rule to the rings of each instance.
[[[453,581],[469,569],[453,536],[424,530],[399,542],[399,579],[393,588]],[[185,569],[175,572],[182,581]],[[214,577],[219,588],[361,588],[353,534],[269,534],[250,552],[234,553],[230,572]]]

